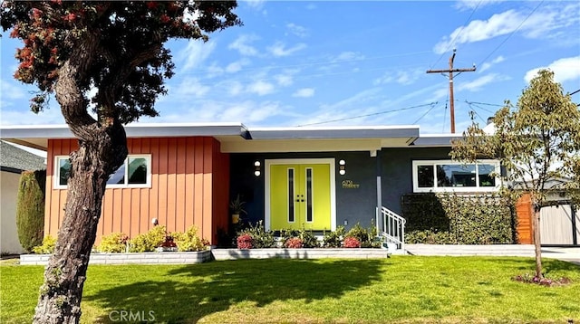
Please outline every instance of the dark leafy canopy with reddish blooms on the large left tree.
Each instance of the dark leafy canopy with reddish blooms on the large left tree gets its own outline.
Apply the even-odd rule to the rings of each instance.
[[[174,68],[163,44],[207,41],[207,33],[241,24],[235,7],[235,1],[14,1],[2,4],[0,20],[24,42],[14,77],[38,86],[34,112],[46,106],[69,64],[85,107],[92,102],[99,119],[129,123],[158,115],[155,99],[167,92],[163,80]],[[97,92],[89,98],[91,89]]]

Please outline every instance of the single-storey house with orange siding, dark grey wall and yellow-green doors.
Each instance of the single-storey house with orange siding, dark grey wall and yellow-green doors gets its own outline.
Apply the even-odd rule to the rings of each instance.
[[[126,131],[129,157],[111,176],[97,241],[113,232],[132,238],[157,218],[169,231],[196,224],[217,244],[231,226],[228,203],[237,195],[246,202],[245,221],[322,233],[372,221],[384,229],[383,217],[400,220],[404,194],[499,187],[488,176],[497,161],[451,161],[453,136],[420,135],[418,126],[140,124]],[[55,235],[77,141],[65,126],[5,126],[0,136],[47,151],[45,233]]]

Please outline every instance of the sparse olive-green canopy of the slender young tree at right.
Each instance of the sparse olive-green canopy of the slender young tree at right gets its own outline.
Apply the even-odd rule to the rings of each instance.
[[[494,116],[495,131],[485,134],[477,123],[453,142],[451,157],[474,161],[498,158],[511,186],[533,195],[541,205],[548,181],[566,179],[559,189],[577,199],[580,171],[580,110],[542,70],[524,89],[517,105],[509,100]]]

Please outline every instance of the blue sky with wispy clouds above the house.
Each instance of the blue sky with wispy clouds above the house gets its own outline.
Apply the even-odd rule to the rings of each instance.
[[[140,123],[241,122],[247,127],[419,125],[449,133],[517,102],[540,68],[580,90],[578,1],[240,1],[244,25],[207,43],[170,41],[175,76]],[[56,100],[35,115],[13,78],[19,41],[0,38],[0,124],[63,124]],[[580,102],[580,92],[572,95]]]

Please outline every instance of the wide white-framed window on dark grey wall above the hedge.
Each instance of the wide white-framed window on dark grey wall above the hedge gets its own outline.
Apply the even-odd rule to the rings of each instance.
[[[449,160],[413,161],[414,192],[478,192],[498,190],[499,163],[483,160],[462,164]]]

